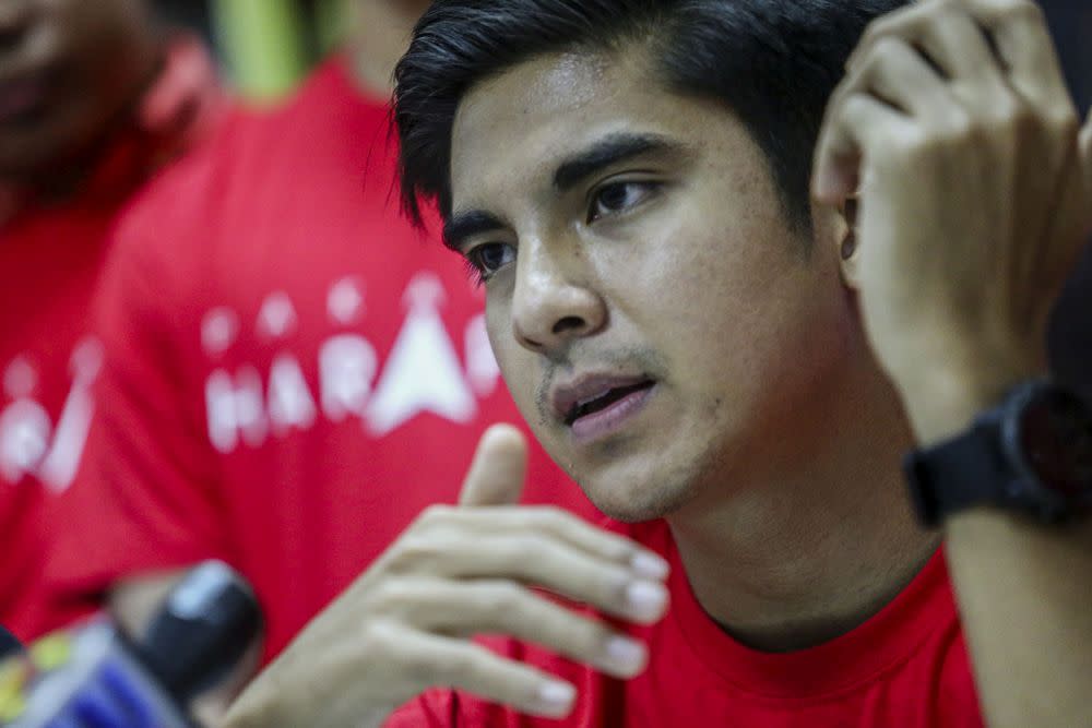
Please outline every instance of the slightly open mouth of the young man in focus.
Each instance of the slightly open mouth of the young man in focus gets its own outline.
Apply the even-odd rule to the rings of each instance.
[[[555,395],[555,411],[582,442],[618,430],[649,399],[655,380],[646,377],[586,378],[561,387]]]

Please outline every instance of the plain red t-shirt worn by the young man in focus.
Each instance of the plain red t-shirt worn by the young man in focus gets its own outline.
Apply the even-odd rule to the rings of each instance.
[[[666,557],[670,609],[660,623],[631,626],[650,664],[630,681],[512,640],[486,640],[500,654],[569,680],[578,689],[561,721],[524,717],[450,690],[396,712],[388,728],[977,728],[983,726],[943,554],[878,614],[832,642],[790,654],[744,647],[702,610],[662,521],[613,529]]]

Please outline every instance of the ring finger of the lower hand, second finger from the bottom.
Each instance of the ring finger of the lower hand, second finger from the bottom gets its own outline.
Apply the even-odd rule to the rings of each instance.
[[[384,585],[378,613],[449,636],[503,634],[532,642],[616,678],[648,665],[644,645],[514,582],[408,578]]]

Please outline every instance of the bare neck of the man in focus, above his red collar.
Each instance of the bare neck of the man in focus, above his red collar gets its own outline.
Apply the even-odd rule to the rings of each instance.
[[[938,546],[903,485],[913,438],[899,399],[870,356],[856,358],[857,371],[831,374],[841,381],[794,408],[796,437],[765,438],[764,452],[720,474],[731,488],[713,484],[668,518],[702,607],[757,649],[803,649],[851,631]]]

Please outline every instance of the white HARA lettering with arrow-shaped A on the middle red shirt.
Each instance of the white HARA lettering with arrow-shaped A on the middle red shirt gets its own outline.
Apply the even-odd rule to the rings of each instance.
[[[354,278],[343,278],[331,287],[327,309],[334,321],[344,323],[361,314],[361,289],[363,284]],[[426,413],[459,423],[471,421],[477,414],[475,394],[488,396],[496,390],[499,370],[483,318],[474,319],[467,327],[463,370],[440,318],[444,297],[435,274],[420,273],[411,281],[404,296],[407,314],[384,365],[375,346],[358,334],[342,333],[327,339],[318,354],[318,397],[309,389],[300,361],[287,351],[274,358],[264,392],[253,367],[245,367],[234,377],[223,368],[215,370],[205,383],[213,446],[222,453],[234,451],[240,442],[259,446],[270,431],[283,437],[292,430],[309,429],[320,413],[333,422],[357,418],[376,437]],[[271,301],[276,301],[272,321],[288,321],[288,329],[270,325]],[[285,313],[288,311],[290,314]],[[225,321],[235,317],[225,309],[216,312]],[[212,356],[218,351],[207,346],[210,317],[205,318],[202,339]],[[295,307],[286,296],[275,294],[265,300],[259,314],[260,334],[287,331],[295,324]]]

